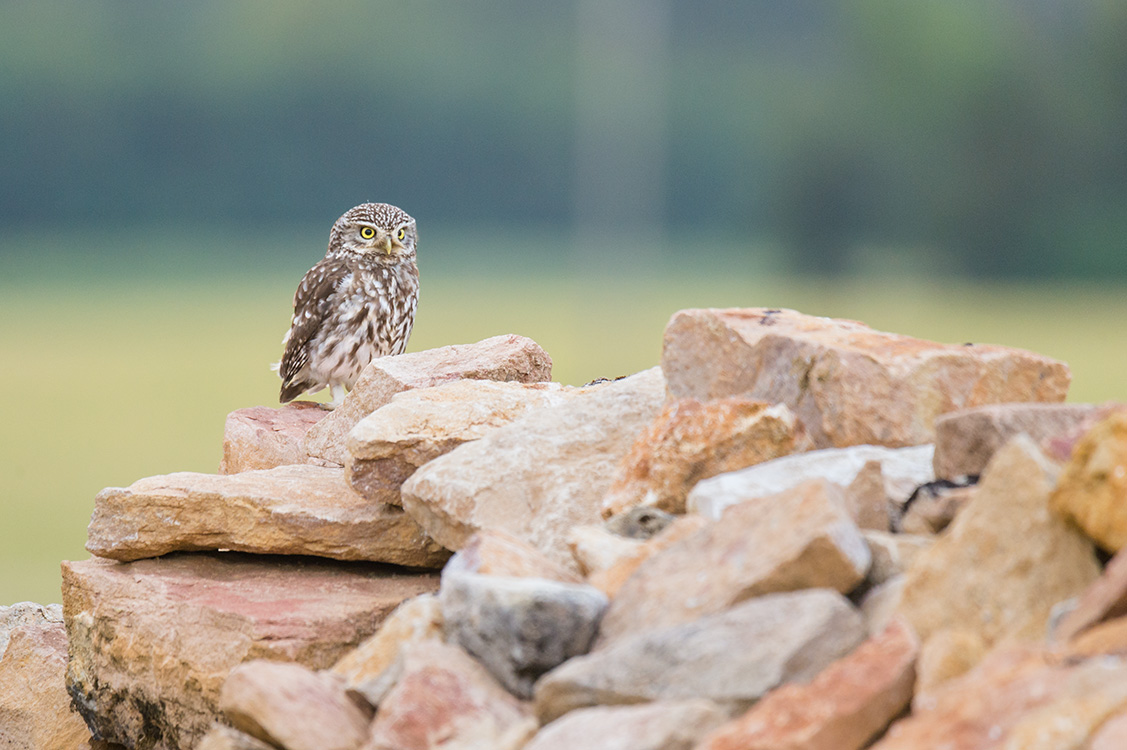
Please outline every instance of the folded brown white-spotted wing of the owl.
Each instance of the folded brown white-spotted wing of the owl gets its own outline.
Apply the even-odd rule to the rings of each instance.
[[[278,368],[282,376],[281,403],[292,402],[319,385],[309,378],[309,343],[331,314],[332,292],[348,271],[341,259],[325,258],[310,268],[298,284],[293,294],[293,323]]]

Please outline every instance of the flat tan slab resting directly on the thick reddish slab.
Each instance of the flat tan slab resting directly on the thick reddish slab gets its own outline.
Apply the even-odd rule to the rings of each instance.
[[[125,562],[219,549],[415,567],[450,557],[402,509],[353,492],[344,469],[308,465],[109,487],[95,498],[88,535],[87,550]]]

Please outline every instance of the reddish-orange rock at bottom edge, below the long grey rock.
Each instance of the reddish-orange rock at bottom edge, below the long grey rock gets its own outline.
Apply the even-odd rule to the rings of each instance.
[[[696,750],[860,750],[912,699],[919,642],[896,620],[807,685],[784,685]]]

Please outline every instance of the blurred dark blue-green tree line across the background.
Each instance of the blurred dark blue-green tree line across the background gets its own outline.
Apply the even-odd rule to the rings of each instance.
[[[570,232],[637,132],[671,236],[1127,275],[1121,0],[592,1],[0,0],[0,226]]]

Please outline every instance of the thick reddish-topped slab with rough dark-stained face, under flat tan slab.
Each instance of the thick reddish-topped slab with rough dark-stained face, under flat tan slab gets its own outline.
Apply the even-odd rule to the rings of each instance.
[[[174,554],[63,563],[66,688],[97,732],[135,750],[189,750],[252,659],[326,669],[438,577],[372,563]]]

